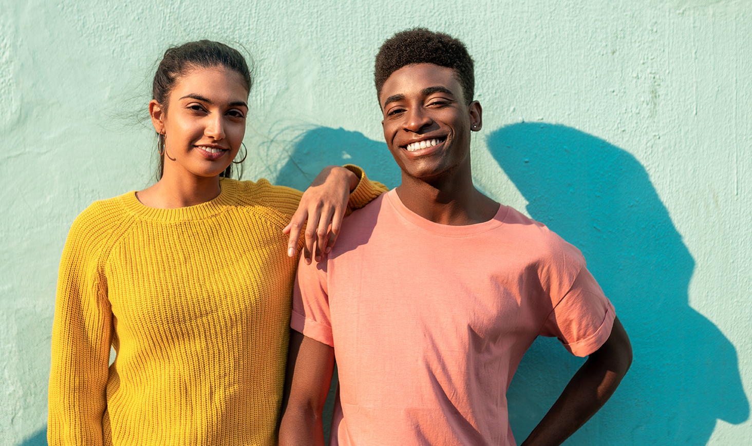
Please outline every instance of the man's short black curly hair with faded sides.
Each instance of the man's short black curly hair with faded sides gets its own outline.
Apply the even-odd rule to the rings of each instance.
[[[443,32],[425,28],[407,29],[393,35],[381,45],[376,55],[374,80],[376,95],[387,79],[406,65],[429,63],[454,70],[465,101],[472,102],[475,89],[472,57],[461,41]]]

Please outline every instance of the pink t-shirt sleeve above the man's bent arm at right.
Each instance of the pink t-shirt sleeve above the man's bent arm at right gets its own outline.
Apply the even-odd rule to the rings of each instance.
[[[570,353],[587,356],[611,335],[616,312],[608,297],[583,267],[572,287],[546,319],[541,336],[556,336]]]

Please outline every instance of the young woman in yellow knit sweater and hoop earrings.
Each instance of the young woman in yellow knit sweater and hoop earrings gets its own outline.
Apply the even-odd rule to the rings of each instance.
[[[302,223],[318,257],[348,196],[363,206],[383,188],[357,167],[325,169],[306,194],[229,179],[250,86],[226,45],[165,53],[149,104],[161,178],[93,203],[65,243],[50,444],[276,444]]]

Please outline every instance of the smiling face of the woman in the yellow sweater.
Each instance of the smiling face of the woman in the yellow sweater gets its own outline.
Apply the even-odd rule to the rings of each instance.
[[[178,77],[166,109],[152,100],[154,128],[165,135],[163,176],[222,173],[243,141],[247,98],[243,77],[217,66],[193,68]]]

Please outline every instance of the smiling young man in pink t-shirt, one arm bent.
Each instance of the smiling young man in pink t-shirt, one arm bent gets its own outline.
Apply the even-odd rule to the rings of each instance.
[[[280,444],[324,444],[336,354],[332,444],[514,445],[505,393],[538,335],[589,356],[523,442],[560,444],[629,369],[614,307],[578,249],[473,186],[482,110],[461,42],[401,32],[375,76],[402,184],[344,221],[325,262],[299,266]]]

